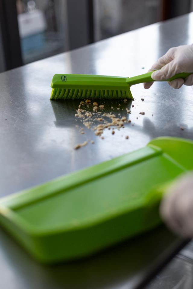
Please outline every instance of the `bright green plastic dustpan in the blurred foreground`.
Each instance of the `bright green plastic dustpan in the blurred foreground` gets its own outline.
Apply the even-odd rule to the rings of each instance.
[[[162,187],[193,169],[193,142],[157,138],[132,153],[0,200],[0,223],[36,259],[80,258],[161,221]]]

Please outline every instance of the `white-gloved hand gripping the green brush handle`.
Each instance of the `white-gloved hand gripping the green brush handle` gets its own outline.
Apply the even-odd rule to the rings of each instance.
[[[154,80],[164,80],[181,72],[193,72],[193,44],[181,45],[170,48],[166,54],[154,63],[148,72],[160,69],[152,73],[151,78]],[[144,88],[148,89],[153,82],[144,83]],[[179,89],[183,84],[193,85],[193,74],[185,80],[182,78],[168,82],[173,88]]]

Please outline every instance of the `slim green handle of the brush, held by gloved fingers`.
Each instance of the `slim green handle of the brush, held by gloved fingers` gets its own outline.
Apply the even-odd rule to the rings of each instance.
[[[137,76],[134,76],[134,77],[128,77],[126,79],[126,82],[129,85],[133,85],[133,84],[138,84],[138,83],[143,83],[143,82],[156,81],[156,80],[153,80],[151,78],[151,74],[152,73],[153,73],[153,71],[150,71],[150,72],[147,72],[147,73],[144,73],[144,74],[141,74],[141,75],[137,75]],[[182,73],[178,73],[178,74],[172,76],[169,79],[165,79],[165,80],[162,80],[162,81],[172,81],[172,80],[177,79],[177,78],[186,79],[186,77],[188,77],[190,74],[192,74],[192,73],[191,72],[190,73],[182,72]]]

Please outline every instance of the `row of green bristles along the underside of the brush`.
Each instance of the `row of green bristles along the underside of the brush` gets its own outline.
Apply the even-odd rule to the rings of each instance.
[[[52,88],[51,100],[62,99],[125,99],[133,98],[130,90],[89,90]]]

